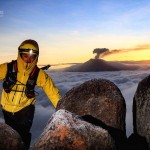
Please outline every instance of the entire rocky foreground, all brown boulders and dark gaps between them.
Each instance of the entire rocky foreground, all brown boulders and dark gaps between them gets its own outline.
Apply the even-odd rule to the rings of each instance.
[[[33,150],[150,150],[150,77],[133,99],[134,133],[126,137],[126,104],[109,80],[93,79],[68,91]],[[19,134],[0,124],[0,149],[22,150]]]

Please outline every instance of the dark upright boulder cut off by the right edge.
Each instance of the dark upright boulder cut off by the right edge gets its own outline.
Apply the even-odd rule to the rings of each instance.
[[[145,138],[150,149],[150,76],[141,80],[133,99],[134,133]]]

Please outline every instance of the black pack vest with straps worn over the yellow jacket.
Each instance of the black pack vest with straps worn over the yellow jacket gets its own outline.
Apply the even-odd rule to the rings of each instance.
[[[40,69],[36,65],[29,75],[29,78],[25,85],[26,86],[25,94],[28,98],[35,97],[34,88],[36,85],[39,71],[40,71]],[[18,72],[17,60],[13,60],[12,62],[7,64],[7,74],[6,74],[5,80],[3,82],[3,88],[6,93],[10,93],[12,91],[13,86],[16,84],[17,72]],[[18,82],[20,82],[20,81],[18,81]],[[24,85],[23,83],[21,83],[21,84]],[[22,91],[18,91],[18,92],[22,92]]]

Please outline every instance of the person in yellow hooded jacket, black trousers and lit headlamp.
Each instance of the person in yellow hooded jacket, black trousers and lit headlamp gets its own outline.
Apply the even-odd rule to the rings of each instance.
[[[39,46],[34,40],[25,40],[18,47],[17,60],[0,65],[0,80],[3,82],[1,106],[5,123],[21,136],[25,149],[30,147],[34,117],[35,84],[41,87],[54,107],[60,99],[52,79],[37,67]]]

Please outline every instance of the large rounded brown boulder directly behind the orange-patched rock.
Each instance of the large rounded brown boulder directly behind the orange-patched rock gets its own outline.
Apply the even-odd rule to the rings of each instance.
[[[90,115],[107,126],[126,131],[124,97],[119,88],[106,79],[93,79],[74,87],[56,109],[66,109],[79,116]]]

